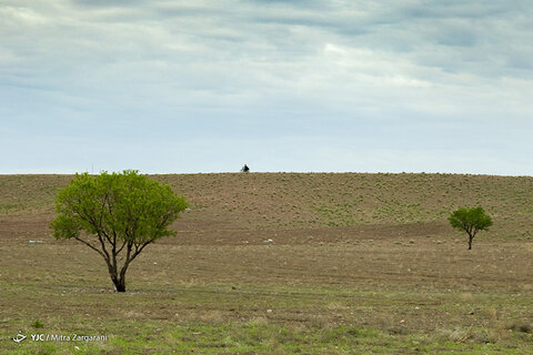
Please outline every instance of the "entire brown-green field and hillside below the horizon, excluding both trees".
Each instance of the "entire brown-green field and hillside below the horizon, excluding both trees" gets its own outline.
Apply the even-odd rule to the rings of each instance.
[[[50,235],[70,179],[0,176],[1,354],[533,353],[532,178],[155,175],[191,209],[125,294]],[[467,251],[446,217],[474,205],[494,226]]]

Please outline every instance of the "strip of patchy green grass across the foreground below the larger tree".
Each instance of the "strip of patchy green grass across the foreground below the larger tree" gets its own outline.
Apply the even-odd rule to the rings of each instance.
[[[13,329],[108,336],[88,343],[26,339],[20,346],[7,341],[0,345],[7,354],[526,354],[533,341],[529,324],[502,321],[520,320],[531,295],[227,284],[120,295],[38,283],[1,286],[8,304],[62,308],[54,314],[12,306],[13,316],[0,322],[1,338]],[[31,321],[36,314],[40,328]]]

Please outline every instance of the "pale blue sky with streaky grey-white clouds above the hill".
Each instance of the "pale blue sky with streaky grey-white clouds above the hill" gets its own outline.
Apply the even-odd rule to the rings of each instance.
[[[1,0],[0,173],[533,175],[533,2]]]

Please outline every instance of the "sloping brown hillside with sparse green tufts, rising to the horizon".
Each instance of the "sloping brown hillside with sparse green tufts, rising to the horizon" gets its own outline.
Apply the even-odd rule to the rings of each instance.
[[[1,175],[0,214],[53,213],[68,175]],[[483,206],[493,235],[530,237],[533,178],[459,174],[227,173],[169,174],[191,202],[183,215],[197,230],[300,230],[446,223],[459,206]],[[431,231],[428,231],[431,234]]]

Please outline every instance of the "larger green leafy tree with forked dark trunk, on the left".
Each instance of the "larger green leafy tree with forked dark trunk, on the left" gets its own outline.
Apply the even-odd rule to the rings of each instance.
[[[138,171],[76,174],[58,193],[50,227],[56,239],[74,239],[99,253],[117,291],[125,292],[130,263],[148,244],[175,235],[167,227],[187,205],[170,186]]]

